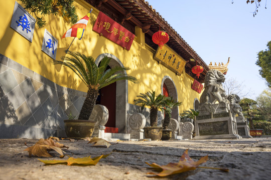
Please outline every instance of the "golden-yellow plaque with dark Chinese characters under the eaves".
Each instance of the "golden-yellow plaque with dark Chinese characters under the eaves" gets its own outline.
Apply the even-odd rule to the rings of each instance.
[[[178,75],[181,75],[186,64],[186,61],[166,44],[162,48],[158,47],[155,59]]]

